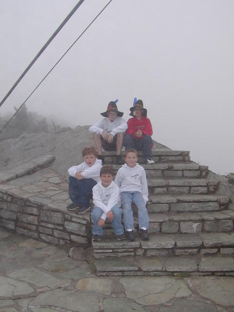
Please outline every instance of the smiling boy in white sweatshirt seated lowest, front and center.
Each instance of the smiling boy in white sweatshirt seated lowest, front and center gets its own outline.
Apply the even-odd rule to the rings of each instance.
[[[93,188],[93,201],[95,208],[91,213],[94,227],[93,240],[101,240],[106,218],[112,222],[117,240],[124,240],[124,230],[121,224],[122,209],[118,205],[119,188],[113,182],[113,167],[106,165],[100,170],[101,181]]]

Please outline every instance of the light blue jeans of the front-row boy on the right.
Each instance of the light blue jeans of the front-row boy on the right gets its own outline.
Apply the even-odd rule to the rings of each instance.
[[[131,203],[132,201],[137,205],[138,209],[138,223],[139,228],[149,228],[148,210],[145,206],[144,199],[140,192],[121,192],[121,203],[123,208],[123,223],[125,230],[134,230],[134,219]]]

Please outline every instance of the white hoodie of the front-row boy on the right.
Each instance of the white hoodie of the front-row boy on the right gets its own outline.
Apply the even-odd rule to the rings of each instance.
[[[133,168],[127,164],[122,165],[118,170],[115,183],[121,192],[140,192],[145,203],[148,201],[148,186],[146,174],[143,167],[136,164]]]

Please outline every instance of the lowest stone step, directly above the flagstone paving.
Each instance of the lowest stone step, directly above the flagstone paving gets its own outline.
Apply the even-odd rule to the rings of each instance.
[[[222,255],[98,259],[95,266],[98,276],[234,276],[233,257]]]

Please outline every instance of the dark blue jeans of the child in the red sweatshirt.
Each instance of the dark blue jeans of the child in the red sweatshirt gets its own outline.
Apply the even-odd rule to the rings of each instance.
[[[131,135],[125,135],[123,139],[123,145],[125,150],[130,148],[135,148],[137,151],[142,151],[143,159],[147,160],[152,158],[152,138],[149,135],[144,136],[143,138],[134,138]]]

